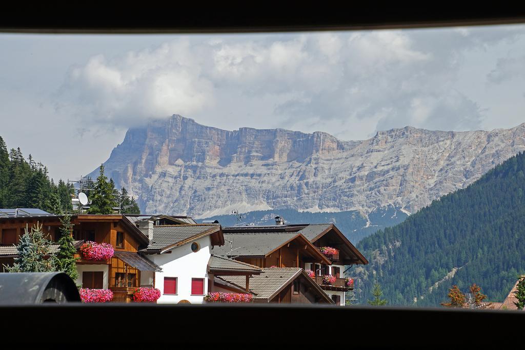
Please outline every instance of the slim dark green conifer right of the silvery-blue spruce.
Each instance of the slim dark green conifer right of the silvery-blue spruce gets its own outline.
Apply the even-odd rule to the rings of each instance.
[[[74,225],[71,223],[71,215],[64,215],[64,217],[60,219],[60,222],[62,226],[60,227],[60,238],[58,239],[58,253],[54,258],[55,268],[57,271],[64,271],[73,281],[76,281],[78,278],[76,264],[78,258],[75,258],[77,249],[75,249],[72,236]]]

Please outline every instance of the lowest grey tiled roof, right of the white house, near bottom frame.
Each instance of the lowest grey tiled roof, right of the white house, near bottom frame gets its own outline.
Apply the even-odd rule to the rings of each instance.
[[[261,274],[250,277],[250,291],[256,295],[254,299],[269,299],[279,289],[301,273],[301,268],[266,268]],[[246,288],[245,276],[221,276],[221,279],[238,285],[241,289]]]

